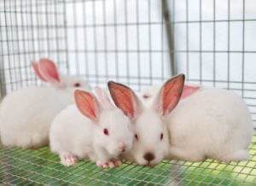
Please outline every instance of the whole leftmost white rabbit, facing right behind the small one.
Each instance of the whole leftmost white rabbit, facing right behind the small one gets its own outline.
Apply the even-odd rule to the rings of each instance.
[[[3,99],[0,108],[0,136],[7,146],[39,148],[49,142],[49,125],[55,115],[73,103],[73,91],[88,88],[77,77],[58,73],[49,59],[32,62],[35,72],[49,87],[17,90]]]

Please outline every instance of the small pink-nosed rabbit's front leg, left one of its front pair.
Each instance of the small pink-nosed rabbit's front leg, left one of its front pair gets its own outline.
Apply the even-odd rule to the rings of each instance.
[[[97,155],[96,166],[110,169],[115,166],[111,160],[112,157],[108,154],[106,149],[97,147],[95,148],[95,151]]]

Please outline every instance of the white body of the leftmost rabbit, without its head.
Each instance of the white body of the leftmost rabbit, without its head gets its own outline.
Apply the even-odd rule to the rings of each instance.
[[[71,93],[54,87],[29,87],[13,92],[1,103],[1,142],[22,148],[47,145],[52,119],[72,102]]]

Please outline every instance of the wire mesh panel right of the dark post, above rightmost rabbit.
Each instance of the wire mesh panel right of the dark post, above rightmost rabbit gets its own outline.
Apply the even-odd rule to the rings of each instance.
[[[256,4],[249,0],[168,1],[172,54],[190,83],[240,94],[256,121]]]

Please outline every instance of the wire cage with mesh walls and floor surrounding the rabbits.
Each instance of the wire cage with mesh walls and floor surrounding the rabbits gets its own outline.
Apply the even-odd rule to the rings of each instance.
[[[110,79],[141,90],[185,73],[192,84],[236,91],[256,123],[256,3],[253,0],[3,0],[0,97],[41,84],[30,61],[49,57],[90,84]],[[222,164],[125,162],[106,171],[59,163],[49,148],[0,146],[0,183],[17,185],[255,185],[251,159]]]

